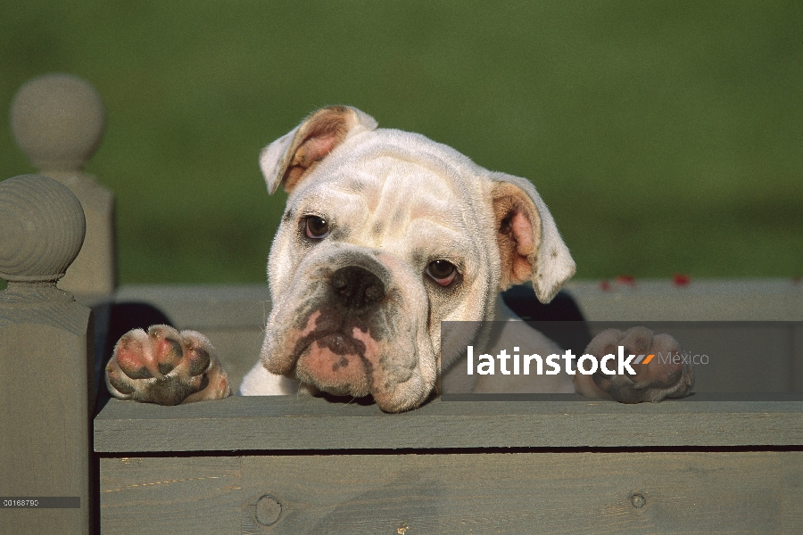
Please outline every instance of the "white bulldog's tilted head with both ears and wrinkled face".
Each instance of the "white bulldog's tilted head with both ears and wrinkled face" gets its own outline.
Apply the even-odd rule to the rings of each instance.
[[[442,321],[492,319],[498,292],[528,280],[547,302],[574,274],[529,182],[353,108],[316,111],[260,164],[289,193],[261,362],[320,391],[418,407]]]

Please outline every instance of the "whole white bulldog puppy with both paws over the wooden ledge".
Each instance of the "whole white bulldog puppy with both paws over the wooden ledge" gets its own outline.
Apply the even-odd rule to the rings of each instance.
[[[386,412],[418,407],[437,391],[441,322],[513,319],[500,299],[532,281],[549,302],[575,273],[550,211],[526,179],[483,169],[451,147],[377,128],[362,111],[324,108],[269,144],[260,166],[287,206],[270,250],[272,309],[261,359],[243,395],[372,396]],[[534,330],[527,348],[562,350]],[[503,337],[503,335],[502,335]],[[605,332],[598,358],[617,344],[675,351],[666,335]],[[691,368],[660,364],[631,377],[534,375],[517,383],[444,374],[468,391],[579,391],[625,402],[683,395]],[[120,399],[176,404],[230,395],[200,333],[155,325],[124,335],[106,367]],[[512,389],[512,390],[511,390]]]

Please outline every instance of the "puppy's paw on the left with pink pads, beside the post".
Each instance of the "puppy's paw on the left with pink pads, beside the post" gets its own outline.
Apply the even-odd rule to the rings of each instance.
[[[160,405],[231,395],[228,376],[209,340],[168,325],[123,334],[106,365],[106,386],[115,398]]]

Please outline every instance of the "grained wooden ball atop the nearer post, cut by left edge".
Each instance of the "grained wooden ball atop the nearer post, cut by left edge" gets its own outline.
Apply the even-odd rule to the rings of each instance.
[[[66,185],[37,175],[0,182],[0,277],[54,283],[78,256],[86,228]]]

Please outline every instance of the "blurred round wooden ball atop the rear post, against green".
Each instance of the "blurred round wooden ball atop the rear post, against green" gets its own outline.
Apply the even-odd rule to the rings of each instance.
[[[69,74],[46,74],[21,86],[10,116],[17,144],[42,173],[82,169],[105,121],[95,87]]]

